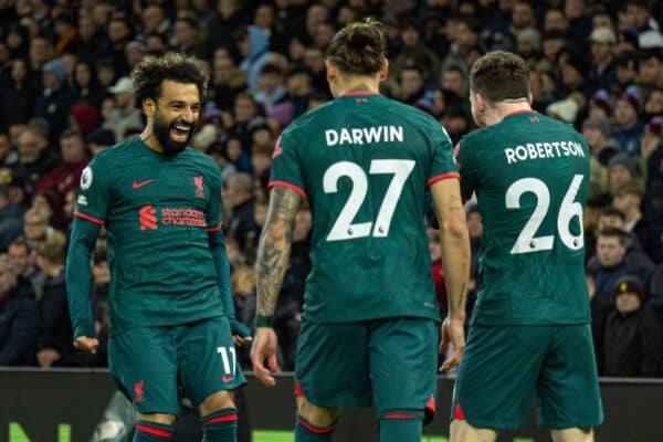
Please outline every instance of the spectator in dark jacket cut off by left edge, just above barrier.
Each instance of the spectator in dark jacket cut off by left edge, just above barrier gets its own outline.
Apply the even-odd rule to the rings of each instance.
[[[38,335],[34,295],[17,285],[15,270],[0,255],[0,366],[33,365]]]

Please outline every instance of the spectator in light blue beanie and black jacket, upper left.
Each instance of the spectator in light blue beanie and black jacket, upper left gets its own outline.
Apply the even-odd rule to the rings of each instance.
[[[34,116],[49,122],[51,141],[56,141],[70,125],[69,116],[74,95],[65,75],[66,66],[60,59],[48,62],[42,70],[43,92],[36,98]]]

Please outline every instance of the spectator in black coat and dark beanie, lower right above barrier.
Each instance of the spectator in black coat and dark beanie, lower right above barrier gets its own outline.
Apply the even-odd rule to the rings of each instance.
[[[631,275],[617,281],[615,309],[608,314],[603,338],[603,376],[661,376],[663,327],[646,305],[643,282]]]

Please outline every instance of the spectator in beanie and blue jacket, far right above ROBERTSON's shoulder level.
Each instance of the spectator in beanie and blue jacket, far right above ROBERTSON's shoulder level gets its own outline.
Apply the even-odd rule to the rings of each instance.
[[[640,155],[640,138],[644,125],[640,120],[640,97],[636,87],[629,87],[617,99],[613,112],[614,138],[620,150],[632,157]]]

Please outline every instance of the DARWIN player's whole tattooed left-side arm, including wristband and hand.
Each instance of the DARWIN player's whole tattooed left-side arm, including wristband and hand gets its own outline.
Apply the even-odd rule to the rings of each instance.
[[[271,371],[278,370],[276,335],[272,328],[272,318],[283,284],[283,276],[287,270],[293,225],[301,202],[302,196],[294,190],[281,186],[272,189],[267,219],[257,249],[256,329],[251,360],[255,376],[266,386],[276,383],[270,375]],[[265,360],[267,360],[267,367],[265,367]]]

